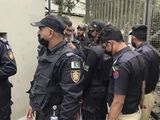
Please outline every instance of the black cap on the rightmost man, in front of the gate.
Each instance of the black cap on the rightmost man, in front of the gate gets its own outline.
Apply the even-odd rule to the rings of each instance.
[[[133,35],[140,40],[146,40],[147,37],[147,26],[143,24],[137,24],[132,27],[132,31],[129,35]]]

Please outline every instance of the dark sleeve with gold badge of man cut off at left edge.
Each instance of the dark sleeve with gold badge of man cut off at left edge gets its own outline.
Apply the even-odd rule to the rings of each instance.
[[[0,81],[16,74],[13,52],[8,44],[0,42]]]

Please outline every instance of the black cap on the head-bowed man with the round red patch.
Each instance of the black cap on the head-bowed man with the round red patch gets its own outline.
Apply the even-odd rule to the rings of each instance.
[[[101,43],[105,43],[108,40],[115,40],[117,42],[122,42],[123,36],[121,31],[112,25],[106,25],[99,34],[99,40]]]

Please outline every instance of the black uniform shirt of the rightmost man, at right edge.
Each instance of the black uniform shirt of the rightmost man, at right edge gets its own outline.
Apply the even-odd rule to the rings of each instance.
[[[147,67],[147,77],[145,85],[145,94],[155,90],[156,84],[159,80],[159,56],[158,52],[148,43],[144,42],[136,49],[144,57]]]

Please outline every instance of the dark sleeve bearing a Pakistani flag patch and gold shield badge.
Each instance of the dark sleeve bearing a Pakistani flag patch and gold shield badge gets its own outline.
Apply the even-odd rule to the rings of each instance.
[[[82,97],[83,65],[79,58],[67,60],[61,71],[63,100],[60,108],[59,120],[76,120],[80,110]]]

